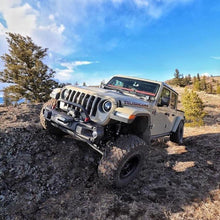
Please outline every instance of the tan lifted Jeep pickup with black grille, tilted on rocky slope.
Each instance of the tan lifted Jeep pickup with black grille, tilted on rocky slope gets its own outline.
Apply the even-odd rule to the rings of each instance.
[[[182,143],[184,113],[177,92],[163,82],[114,76],[100,88],[67,85],[50,96],[40,113],[43,128],[98,151],[99,176],[117,187],[136,177],[152,139]]]

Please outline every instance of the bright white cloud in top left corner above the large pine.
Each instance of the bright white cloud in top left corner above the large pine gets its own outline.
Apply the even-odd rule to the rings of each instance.
[[[58,24],[52,14],[43,17],[40,8],[39,4],[35,9],[20,0],[1,0],[0,13],[6,26],[0,23],[0,40],[4,41],[5,32],[19,33],[30,36],[34,42],[53,52],[67,54],[69,49],[65,46],[66,38],[63,34],[65,26]],[[1,43],[4,48],[5,43]]]

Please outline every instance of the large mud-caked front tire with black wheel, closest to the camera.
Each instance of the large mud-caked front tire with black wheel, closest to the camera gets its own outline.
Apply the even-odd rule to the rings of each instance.
[[[99,167],[99,177],[105,184],[123,187],[141,170],[146,143],[135,135],[124,135],[112,143],[104,153]]]

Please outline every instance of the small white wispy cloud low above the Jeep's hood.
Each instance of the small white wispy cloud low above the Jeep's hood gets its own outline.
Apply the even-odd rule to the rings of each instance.
[[[64,62],[61,63],[60,65],[62,67],[65,67],[64,69],[57,68],[56,69],[56,76],[55,78],[59,80],[59,82],[76,82],[76,81],[81,81],[86,79],[85,75],[82,73],[76,73],[76,69],[79,66],[83,65],[89,65],[92,63],[97,63],[97,62],[91,62],[91,61],[74,61],[74,62]],[[74,75],[73,75],[74,74]]]

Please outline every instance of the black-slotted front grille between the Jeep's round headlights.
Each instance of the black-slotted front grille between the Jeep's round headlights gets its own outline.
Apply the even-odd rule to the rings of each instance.
[[[101,101],[100,97],[75,90],[68,90],[67,97],[63,99],[68,102],[76,103],[83,106],[89,116],[96,116],[97,107],[99,102]],[[70,103],[65,103],[64,106],[68,109],[77,109],[77,107],[74,107],[74,105],[71,105]]]

